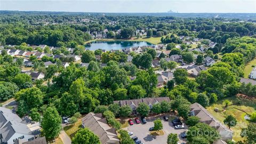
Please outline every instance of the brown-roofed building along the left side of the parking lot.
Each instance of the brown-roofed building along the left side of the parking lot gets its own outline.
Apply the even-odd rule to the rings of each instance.
[[[116,129],[110,127],[102,114],[89,113],[82,118],[82,127],[87,127],[98,135],[102,144],[118,144]]]

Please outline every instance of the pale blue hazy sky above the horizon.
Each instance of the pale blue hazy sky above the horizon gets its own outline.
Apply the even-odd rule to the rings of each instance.
[[[0,0],[0,10],[66,12],[256,13],[256,0]]]

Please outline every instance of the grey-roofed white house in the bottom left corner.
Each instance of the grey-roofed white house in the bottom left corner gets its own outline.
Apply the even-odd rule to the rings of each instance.
[[[0,119],[1,143],[10,144],[18,140],[26,142],[35,139],[35,134],[18,115],[12,113],[11,109],[0,107]]]

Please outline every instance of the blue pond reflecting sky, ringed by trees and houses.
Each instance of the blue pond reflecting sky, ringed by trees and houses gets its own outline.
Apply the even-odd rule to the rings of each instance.
[[[122,50],[130,47],[138,46],[150,46],[148,42],[129,42],[129,41],[112,41],[112,42],[92,42],[91,45],[85,45],[85,48],[88,50]]]

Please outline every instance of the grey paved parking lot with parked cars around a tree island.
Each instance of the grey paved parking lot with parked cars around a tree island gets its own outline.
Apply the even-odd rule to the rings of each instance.
[[[185,126],[185,129],[179,129],[179,130],[175,130],[174,126],[172,125],[171,119],[169,118],[169,121],[164,121],[163,117],[159,117],[162,120],[163,123],[163,131],[165,132],[164,135],[162,136],[155,136],[155,135],[150,135],[149,134],[149,128],[150,127],[154,127],[154,120],[157,117],[154,118],[146,118],[147,119],[147,123],[146,124],[142,124],[140,121],[140,124],[135,123],[134,118],[133,120],[133,125],[129,125],[128,127],[126,127],[124,130],[127,130],[128,132],[133,132],[133,135],[131,137],[137,136],[139,140],[141,140],[141,142],[143,143],[167,143],[167,136],[169,133],[177,133],[179,136],[179,143],[181,142],[186,142],[186,139],[182,139],[180,134],[182,132],[185,132],[188,127],[187,125],[183,124]],[[140,119],[140,117],[139,117]],[[140,119],[141,120],[141,119]]]

